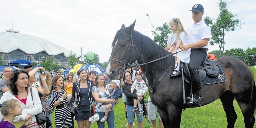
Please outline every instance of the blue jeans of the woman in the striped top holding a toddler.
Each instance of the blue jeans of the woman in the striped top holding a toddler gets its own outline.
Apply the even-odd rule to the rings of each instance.
[[[98,112],[100,119],[102,119],[105,116],[105,112]],[[114,128],[115,127],[115,115],[114,110],[111,110],[108,112],[108,119],[106,120],[108,124],[108,128]],[[105,128],[105,122],[100,122],[100,120],[97,121],[98,128]]]

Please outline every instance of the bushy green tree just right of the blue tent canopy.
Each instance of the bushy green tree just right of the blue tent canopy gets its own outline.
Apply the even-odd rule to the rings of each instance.
[[[54,70],[54,72],[59,72],[61,66],[58,65],[57,62],[52,60],[52,58],[44,60],[44,62],[41,62],[40,65],[45,68],[45,70]]]

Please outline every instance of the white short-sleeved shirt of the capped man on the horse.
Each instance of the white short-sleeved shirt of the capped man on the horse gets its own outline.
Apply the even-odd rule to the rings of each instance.
[[[187,42],[188,44],[193,44],[195,42],[198,42],[200,40],[209,38],[211,36],[211,27],[208,26],[204,20],[201,20],[200,22],[193,24],[190,26],[187,30],[188,36],[189,36],[189,41]],[[207,46],[204,46],[202,48],[208,48]]]

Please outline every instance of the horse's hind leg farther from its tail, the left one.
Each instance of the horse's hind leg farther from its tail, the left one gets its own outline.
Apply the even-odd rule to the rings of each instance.
[[[233,105],[234,96],[232,92],[226,91],[224,94],[222,94],[222,96],[220,96],[220,101],[222,102],[222,106],[224,108],[224,111],[226,112],[227,121],[228,121],[227,128],[234,128],[237,114]]]

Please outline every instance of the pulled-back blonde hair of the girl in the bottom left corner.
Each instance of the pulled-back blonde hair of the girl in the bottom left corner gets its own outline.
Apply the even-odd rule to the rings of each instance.
[[[0,109],[1,114],[3,116],[7,116],[9,114],[9,109],[14,109],[16,107],[16,102],[18,102],[18,100],[15,99],[6,100],[3,102]]]

